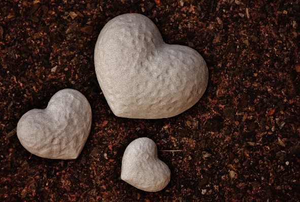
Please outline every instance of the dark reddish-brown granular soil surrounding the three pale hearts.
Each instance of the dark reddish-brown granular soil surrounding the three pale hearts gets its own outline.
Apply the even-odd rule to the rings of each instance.
[[[97,36],[124,13],[148,16],[168,44],[206,60],[209,84],[165,119],[116,117],[93,64]],[[0,1],[0,201],[300,201],[300,1]],[[59,90],[92,107],[77,159],[30,154],[15,129]],[[120,180],[121,159],[149,137],[171,169],[145,192]]]

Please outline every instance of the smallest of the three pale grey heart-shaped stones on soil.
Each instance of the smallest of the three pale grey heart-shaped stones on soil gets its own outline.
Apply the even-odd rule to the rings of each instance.
[[[157,147],[149,138],[138,138],[125,149],[121,179],[144,191],[160,191],[171,179],[171,171],[157,157]]]

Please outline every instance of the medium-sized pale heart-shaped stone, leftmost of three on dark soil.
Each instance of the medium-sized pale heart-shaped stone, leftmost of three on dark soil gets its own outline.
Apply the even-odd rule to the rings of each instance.
[[[17,136],[25,149],[44,158],[77,158],[91,129],[87,99],[74,89],[55,93],[46,109],[32,109],[20,118]]]

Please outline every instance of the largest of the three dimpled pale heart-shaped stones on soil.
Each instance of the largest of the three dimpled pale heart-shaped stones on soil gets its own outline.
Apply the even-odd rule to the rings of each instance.
[[[195,50],[163,42],[141,14],[110,20],[98,36],[95,71],[113,113],[165,118],[193,106],[208,84],[208,68]]]

